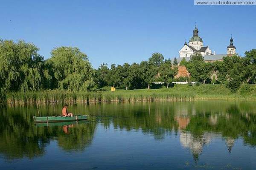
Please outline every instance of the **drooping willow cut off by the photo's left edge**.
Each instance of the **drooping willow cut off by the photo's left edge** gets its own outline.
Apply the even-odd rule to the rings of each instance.
[[[37,91],[43,88],[44,57],[32,43],[0,40],[0,91]],[[47,77],[50,79],[51,77]]]

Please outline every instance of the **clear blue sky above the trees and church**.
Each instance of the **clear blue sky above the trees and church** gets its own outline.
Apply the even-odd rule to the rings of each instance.
[[[195,22],[204,45],[226,54],[255,48],[256,6],[194,6],[194,0],[2,0],[0,38],[25,40],[45,59],[54,47],[78,47],[94,68],[140,63],[154,52],[178,57]]]

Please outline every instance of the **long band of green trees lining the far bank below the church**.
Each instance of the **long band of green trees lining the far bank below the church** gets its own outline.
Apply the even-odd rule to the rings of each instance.
[[[86,54],[76,47],[53,48],[51,57],[44,59],[38,54],[39,48],[20,40],[0,39],[0,97],[7,91],[39,91],[64,89],[87,91],[106,85],[125,88],[151,88],[151,85],[169,88],[177,74],[177,59],[173,62],[160,53],[154,53],[148,61],[123,65],[102,63],[98,69],[90,64]],[[222,83],[236,91],[241,83],[256,82],[256,49],[238,55],[223,57],[223,61],[204,62],[204,58],[193,55],[187,62],[183,59],[190,78],[176,80],[201,83]],[[214,75],[214,76],[212,76]]]

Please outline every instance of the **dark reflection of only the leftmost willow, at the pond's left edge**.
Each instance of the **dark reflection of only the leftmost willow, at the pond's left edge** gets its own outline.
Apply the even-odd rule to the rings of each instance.
[[[31,128],[30,116],[7,110],[0,106],[0,154],[6,159],[40,156],[44,154],[47,139],[38,136],[38,131]],[[28,121],[27,121],[28,120]]]

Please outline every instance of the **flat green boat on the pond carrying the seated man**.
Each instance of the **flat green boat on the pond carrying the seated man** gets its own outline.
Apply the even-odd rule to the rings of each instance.
[[[73,122],[79,120],[87,120],[87,115],[75,115],[75,116],[33,116],[36,123],[54,123],[54,122]]]

